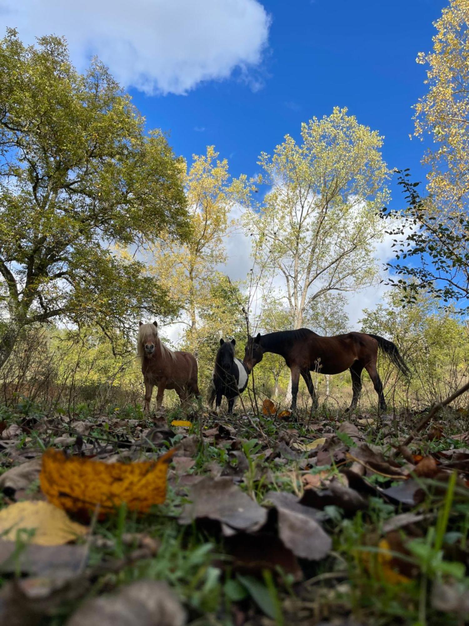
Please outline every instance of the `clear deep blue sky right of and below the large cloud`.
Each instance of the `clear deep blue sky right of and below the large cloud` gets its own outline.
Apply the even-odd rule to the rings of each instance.
[[[409,139],[411,106],[425,93],[425,68],[415,63],[431,49],[432,22],[441,0],[294,0],[263,3],[271,25],[253,91],[243,80],[208,81],[188,95],[146,96],[131,90],[149,127],[171,131],[177,153],[190,158],[214,144],[233,175],[256,171],[262,150],[273,151],[302,121],[346,106],[360,123],[385,136],[392,167],[410,167],[415,180],[423,146]],[[393,206],[401,206],[393,186]]]

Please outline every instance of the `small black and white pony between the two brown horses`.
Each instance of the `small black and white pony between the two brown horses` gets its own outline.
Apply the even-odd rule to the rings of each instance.
[[[223,396],[228,400],[228,413],[233,413],[235,399],[248,386],[248,368],[243,361],[236,359],[235,344],[235,339],[231,341],[220,339],[220,347],[216,353],[208,403],[209,406],[213,406],[213,401],[216,399],[215,411],[217,413]]]

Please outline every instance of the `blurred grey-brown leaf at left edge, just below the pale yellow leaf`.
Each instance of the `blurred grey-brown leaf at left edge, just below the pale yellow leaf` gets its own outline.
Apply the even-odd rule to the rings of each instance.
[[[86,545],[34,545],[18,550],[16,541],[0,540],[0,572],[28,575],[77,575],[88,560]]]

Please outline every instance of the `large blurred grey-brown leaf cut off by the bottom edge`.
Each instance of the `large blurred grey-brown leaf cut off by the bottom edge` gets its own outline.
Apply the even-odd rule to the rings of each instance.
[[[186,613],[169,585],[139,580],[84,602],[67,626],[183,626]]]

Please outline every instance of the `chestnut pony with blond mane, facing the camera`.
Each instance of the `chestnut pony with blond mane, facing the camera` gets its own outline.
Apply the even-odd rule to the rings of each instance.
[[[197,361],[190,352],[173,352],[158,336],[158,324],[142,324],[138,329],[137,353],[142,361],[145,382],[145,411],[149,411],[154,385],[158,386],[156,408],[161,408],[164,389],[176,389],[184,404],[189,396],[199,396]]]

